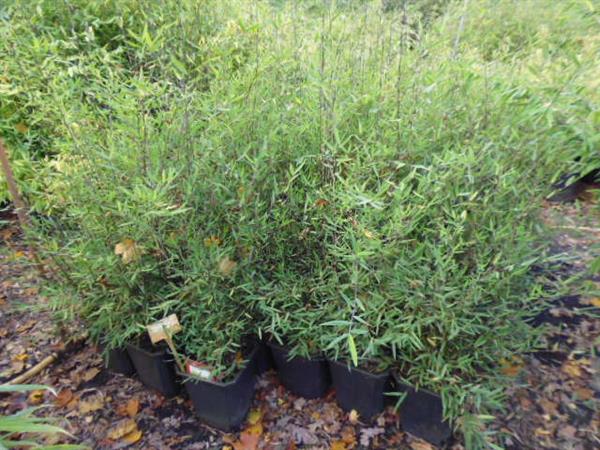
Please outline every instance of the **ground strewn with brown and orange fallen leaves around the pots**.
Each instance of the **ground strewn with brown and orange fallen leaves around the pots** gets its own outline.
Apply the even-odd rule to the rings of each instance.
[[[553,249],[568,256],[555,269],[557,278],[585,272],[594,256],[592,244],[600,243],[596,214],[589,204],[545,206],[542,220],[553,230],[548,236]],[[38,292],[39,275],[31,264],[31,253],[10,220],[0,239],[3,383],[64,350],[66,339],[55,332],[46,301]],[[600,286],[594,280],[587,283]],[[551,301],[537,317],[537,324],[545,327],[545,348],[502,369],[514,383],[506,411],[496,418],[491,431],[504,436],[508,448],[600,448],[600,299],[581,295],[583,285],[576,286]],[[391,409],[366,423],[342,412],[333,393],[310,401],[290,394],[272,372],[259,380],[247,426],[241,433],[224,434],[201,425],[187,399],[165,399],[135,378],[106,371],[93,346],[82,343],[68,350],[29,380],[53,386],[57,397],[49,392],[7,395],[0,397],[0,413],[32,404],[50,405],[43,414],[61,417],[61,424],[76,437],[73,442],[96,449],[433,448],[404,433]],[[460,437],[453,448],[463,448]]]

